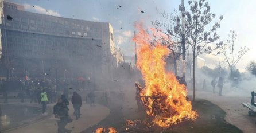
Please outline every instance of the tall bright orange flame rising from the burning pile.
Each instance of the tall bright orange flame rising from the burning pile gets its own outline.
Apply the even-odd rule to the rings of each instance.
[[[135,27],[138,30],[133,38],[138,51],[136,65],[145,80],[145,88],[140,95],[147,114],[152,116],[153,122],[160,127],[169,127],[184,119],[195,120],[198,115],[192,110],[191,101],[186,99],[187,89],[178,83],[173,73],[165,70],[164,57],[168,56],[170,51],[161,43],[168,41],[168,37],[151,28],[153,36],[160,40],[152,38],[152,35],[143,29],[141,22],[137,22]]]

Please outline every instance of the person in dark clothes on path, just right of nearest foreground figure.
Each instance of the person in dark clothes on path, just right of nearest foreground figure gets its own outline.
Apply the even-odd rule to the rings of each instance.
[[[76,92],[73,92],[72,100],[71,100],[73,107],[74,107],[74,114],[76,116],[76,119],[80,117],[80,108],[82,105],[82,98],[79,94]]]

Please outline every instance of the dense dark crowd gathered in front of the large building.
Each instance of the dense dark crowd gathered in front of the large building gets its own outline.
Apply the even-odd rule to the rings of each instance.
[[[90,80],[50,80],[50,79],[30,79],[30,80],[0,80],[0,92],[2,93],[4,103],[8,103],[10,93],[15,93],[14,98],[30,99],[30,103],[41,103],[40,96],[44,90],[48,94],[49,103],[57,101],[57,96],[64,93],[69,96],[69,89],[95,89],[95,85]]]

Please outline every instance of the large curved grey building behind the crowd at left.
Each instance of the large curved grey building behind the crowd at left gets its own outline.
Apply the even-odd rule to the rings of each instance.
[[[9,76],[100,77],[123,61],[107,22],[31,13],[6,1],[0,8],[2,59]]]

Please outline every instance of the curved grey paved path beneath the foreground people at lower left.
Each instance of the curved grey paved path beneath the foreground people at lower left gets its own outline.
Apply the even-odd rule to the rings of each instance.
[[[73,115],[73,105],[70,104],[68,107],[69,116],[71,116],[73,122],[68,123],[66,128],[72,130],[72,133],[81,132],[90,126],[97,124],[100,120],[103,120],[108,114],[110,114],[110,110],[107,107],[99,104],[96,104],[95,107],[90,107],[90,105],[83,103],[80,110],[82,115],[78,120],[76,120]],[[58,119],[56,119],[54,115],[51,115],[48,119],[25,127],[17,128],[16,130],[9,131],[9,133],[55,133],[57,132],[57,120]]]

